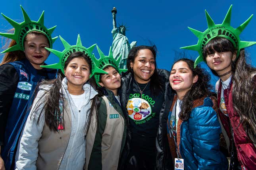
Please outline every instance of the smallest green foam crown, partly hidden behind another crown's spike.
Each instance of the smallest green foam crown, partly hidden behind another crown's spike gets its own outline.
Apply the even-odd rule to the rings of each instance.
[[[119,69],[118,67],[118,64],[119,64],[119,61],[121,60],[121,57],[122,56],[119,56],[116,60],[114,59],[113,57],[113,53],[112,53],[112,47],[110,46],[110,50],[109,50],[109,53],[107,56],[104,55],[104,53],[100,50],[100,48],[97,46],[97,50],[98,50],[98,53],[100,55],[100,59],[96,59],[95,60],[95,63],[96,63],[96,66],[99,67],[100,69],[104,69],[106,68],[107,66],[112,66],[114,67],[117,72],[119,74],[121,74],[121,72],[126,72],[127,69]],[[105,73],[104,73],[105,74]],[[108,74],[108,73],[107,73]],[[99,85],[99,81],[100,81],[100,74],[94,74],[94,78],[96,80],[96,83],[98,86]],[[101,86],[100,86],[101,87]]]

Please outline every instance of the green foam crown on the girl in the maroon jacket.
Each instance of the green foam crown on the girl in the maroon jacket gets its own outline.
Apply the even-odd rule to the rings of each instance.
[[[181,47],[181,49],[198,51],[199,56],[196,58],[196,61],[194,62],[194,67],[196,67],[196,65],[198,65],[198,63],[200,63],[201,61],[204,61],[204,57],[203,57],[204,46],[210,40],[212,40],[217,36],[227,38],[229,41],[232,42],[235,49],[237,50],[237,57],[239,56],[240,50],[242,48],[256,44],[256,42],[241,41],[239,38],[239,35],[248,25],[253,15],[251,15],[243,24],[241,24],[239,27],[235,29],[230,25],[231,10],[232,10],[232,5],[229,7],[229,10],[227,11],[227,14],[222,24],[215,24],[212,18],[210,17],[210,15],[208,14],[208,12],[205,10],[208,29],[206,29],[204,32],[200,32],[188,27],[189,30],[193,32],[193,34],[198,38],[198,42],[196,45]]]

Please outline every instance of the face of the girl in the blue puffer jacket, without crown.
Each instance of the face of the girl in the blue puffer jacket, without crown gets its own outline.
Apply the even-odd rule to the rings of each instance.
[[[178,98],[183,99],[197,79],[198,76],[193,76],[192,70],[185,61],[178,61],[171,69],[169,82],[171,88],[177,92]]]

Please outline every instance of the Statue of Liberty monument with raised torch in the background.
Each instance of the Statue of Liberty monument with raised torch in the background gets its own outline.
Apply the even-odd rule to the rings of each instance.
[[[112,43],[112,52],[115,59],[122,56],[119,68],[120,69],[127,69],[127,57],[128,53],[130,52],[131,48],[136,46],[136,41],[131,42],[131,44],[128,41],[127,36],[125,36],[125,26],[120,25],[119,27],[116,27],[116,21],[115,21],[115,15],[117,13],[116,8],[114,7],[112,9],[112,17],[113,17],[113,43]]]

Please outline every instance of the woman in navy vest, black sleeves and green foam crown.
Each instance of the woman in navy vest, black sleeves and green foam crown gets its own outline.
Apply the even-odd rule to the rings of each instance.
[[[14,156],[19,135],[32,104],[34,90],[42,79],[53,79],[56,71],[42,69],[56,38],[55,27],[44,26],[44,12],[38,21],[31,21],[21,7],[24,21],[17,23],[3,15],[14,27],[13,34],[0,33],[11,38],[9,48],[0,64],[0,169],[14,168]]]

